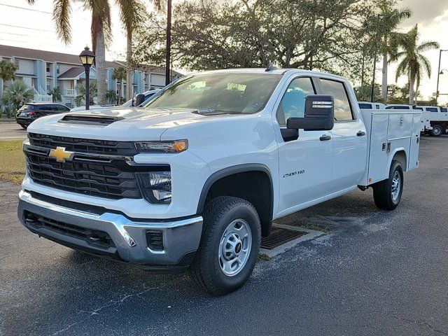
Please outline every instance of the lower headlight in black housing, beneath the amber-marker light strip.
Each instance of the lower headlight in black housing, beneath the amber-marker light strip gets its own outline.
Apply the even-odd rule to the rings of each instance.
[[[137,174],[141,191],[151,203],[171,203],[171,172],[149,172]]]

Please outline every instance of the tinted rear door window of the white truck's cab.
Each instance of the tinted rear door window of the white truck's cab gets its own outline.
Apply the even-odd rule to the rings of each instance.
[[[335,121],[353,120],[353,112],[344,83],[321,78],[322,93],[335,99]]]

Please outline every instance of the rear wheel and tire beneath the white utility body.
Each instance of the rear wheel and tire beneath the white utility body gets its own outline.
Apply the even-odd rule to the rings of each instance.
[[[403,192],[403,181],[401,164],[393,160],[388,179],[373,186],[373,199],[379,209],[393,210],[398,206]]]

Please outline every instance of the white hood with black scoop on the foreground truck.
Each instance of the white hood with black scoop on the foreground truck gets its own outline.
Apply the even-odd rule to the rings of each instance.
[[[151,141],[160,140],[162,134],[169,128],[223,118],[223,116],[201,116],[192,113],[193,111],[195,110],[114,108],[69,112],[39,118],[29,125],[28,132],[86,139]],[[106,120],[106,122],[94,123],[90,120]]]

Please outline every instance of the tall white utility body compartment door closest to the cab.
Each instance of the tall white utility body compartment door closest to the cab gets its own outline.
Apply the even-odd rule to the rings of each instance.
[[[372,113],[367,184],[384,180],[384,167],[388,163],[388,118],[388,114]]]

